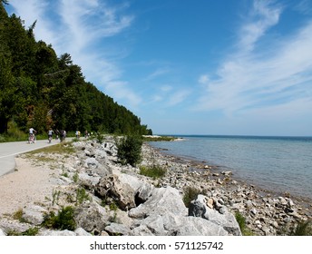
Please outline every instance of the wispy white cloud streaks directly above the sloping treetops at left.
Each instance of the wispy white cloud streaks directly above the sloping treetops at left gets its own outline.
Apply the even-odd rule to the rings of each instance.
[[[141,98],[122,81],[122,70],[116,62],[123,53],[105,44],[107,38],[129,28],[134,16],[124,14],[128,5],[108,3],[100,0],[10,1],[26,24],[37,20],[34,30],[37,39],[52,44],[57,54],[71,54],[73,63],[82,66],[87,81],[96,82],[104,92],[135,107]]]

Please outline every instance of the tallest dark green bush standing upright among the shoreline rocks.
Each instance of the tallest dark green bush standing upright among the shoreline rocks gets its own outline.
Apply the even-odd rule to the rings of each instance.
[[[127,136],[117,144],[117,157],[122,164],[135,166],[141,161],[141,136]]]

